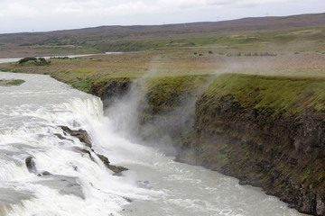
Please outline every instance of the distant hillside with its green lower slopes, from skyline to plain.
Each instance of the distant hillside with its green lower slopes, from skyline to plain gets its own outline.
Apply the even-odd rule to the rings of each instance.
[[[324,50],[324,36],[325,14],[244,18],[211,23],[101,26],[1,34],[0,58],[207,46],[220,50],[261,51],[274,45],[285,45],[290,51],[300,51],[311,50],[308,44],[312,44],[312,48]]]

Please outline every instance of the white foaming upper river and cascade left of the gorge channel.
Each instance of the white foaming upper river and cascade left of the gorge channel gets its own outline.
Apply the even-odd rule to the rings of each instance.
[[[60,126],[102,124],[100,99],[50,76],[0,73],[20,86],[0,86],[0,215],[120,215],[129,199],[150,193],[103,165]]]

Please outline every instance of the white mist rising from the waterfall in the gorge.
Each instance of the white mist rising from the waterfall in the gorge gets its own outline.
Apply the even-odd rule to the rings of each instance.
[[[113,122],[116,133],[158,148],[166,155],[176,156],[191,130],[200,92],[194,95],[182,92],[177,95],[179,100],[176,106],[151,106],[149,100],[154,96],[155,89],[148,87],[148,83],[152,78],[159,79],[157,67],[159,65],[154,65],[144,76],[136,78],[126,94],[110,99],[105,113]],[[209,83],[201,89],[208,87]]]

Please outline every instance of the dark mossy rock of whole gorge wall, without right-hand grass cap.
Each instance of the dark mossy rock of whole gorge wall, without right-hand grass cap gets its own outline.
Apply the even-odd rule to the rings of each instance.
[[[94,85],[91,93],[111,101],[128,92],[131,80],[126,80]],[[298,211],[325,215],[325,112],[308,106],[300,112],[274,112],[272,107],[256,108],[258,89],[244,101],[210,89],[197,100],[192,124],[193,114],[184,117],[183,111],[191,109],[186,101],[203,83],[193,85],[184,77],[153,82],[140,107],[139,130],[147,132],[143,138],[167,134],[175,148],[182,143],[178,161],[235,176],[240,184],[263,187]]]

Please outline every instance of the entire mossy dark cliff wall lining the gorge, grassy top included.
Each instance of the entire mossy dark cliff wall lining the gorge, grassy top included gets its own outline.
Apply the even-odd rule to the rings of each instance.
[[[324,215],[325,79],[226,74],[207,87],[209,78],[152,79],[139,103],[139,127],[151,123],[154,139],[176,139],[178,161],[236,176],[299,211]],[[124,81],[109,82],[98,88],[109,95],[92,93],[109,101],[112,88],[124,89]],[[188,121],[180,121],[185,113]]]

